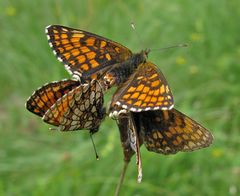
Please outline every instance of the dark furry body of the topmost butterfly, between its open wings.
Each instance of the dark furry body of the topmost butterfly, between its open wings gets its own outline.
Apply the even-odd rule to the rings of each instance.
[[[126,61],[117,63],[105,74],[104,80],[108,88],[124,83],[141,63],[146,62],[148,50],[133,54]]]

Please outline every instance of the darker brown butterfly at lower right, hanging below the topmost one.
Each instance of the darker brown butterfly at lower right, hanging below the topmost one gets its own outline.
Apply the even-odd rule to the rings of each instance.
[[[111,114],[116,114],[110,117],[117,121],[123,147],[125,164],[122,173],[125,174],[131,157],[136,153],[138,182],[142,178],[139,150],[142,144],[149,151],[168,155],[205,148],[213,141],[206,128],[174,108],[143,112],[130,112],[120,107],[110,110]]]

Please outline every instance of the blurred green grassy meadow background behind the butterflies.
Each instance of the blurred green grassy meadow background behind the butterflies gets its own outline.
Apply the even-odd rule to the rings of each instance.
[[[113,195],[123,165],[118,129],[107,118],[94,135],[51,132],[25,109],[43,84],[69,78],[48,46],[44,28],[61,24],[111,38],[135,52],[152,52],[175,106],[207,127],[213,145],[164,156],[141,148],[121,195],[239,195],[240,1],[0,1],[0,195]],[[144,46],[131,29],[134,21]],[[107,95],[109,99],[110,94]]]

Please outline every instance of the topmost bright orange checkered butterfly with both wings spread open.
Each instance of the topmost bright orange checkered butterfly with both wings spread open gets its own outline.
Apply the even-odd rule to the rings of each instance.
[[[150,50],[133,54],[112,40],[59,25],[48,26],[46,34],[54,54],[73,77],[90,81],[100,75],[108,88],[120,86],[112,104],[133,112],[173,107],[166,79],[146,61]]]

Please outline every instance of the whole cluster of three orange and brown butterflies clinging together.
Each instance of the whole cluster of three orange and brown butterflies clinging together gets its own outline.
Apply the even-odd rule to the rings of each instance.
[[[46,28],[57,59],[74,80],[49,83],[34,92],[27,109],[59,130],[96,132],[105,116],[103,94],[118,89],[110,115],[117,119],[129,162],[136,152],[141,178],[140,146],[162,154],[206,147],[212,135],[173,109],[173,96],[163,74],[147,61],[149,51],[133,54],[119,43],[82,30],[53,25]]]

